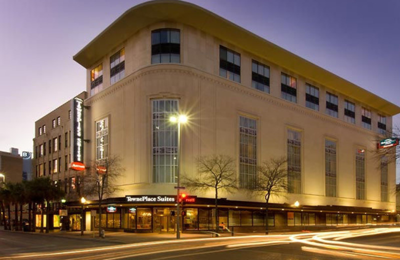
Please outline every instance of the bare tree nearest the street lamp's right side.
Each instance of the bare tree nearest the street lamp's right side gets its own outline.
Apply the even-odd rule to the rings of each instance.
[[[226,155],[209,155],[197,158],[198,174],[193,177],[182,176],[182,184],[189,189],[215,192],[215,230],[218,231],[218,191],[230,192],[236,189],[236,170],[233,159]]]

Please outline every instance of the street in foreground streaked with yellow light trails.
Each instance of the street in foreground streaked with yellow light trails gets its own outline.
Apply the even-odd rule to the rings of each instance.
[[[376,243],[374,243],[376,241]],[[0,260],[400,259],[400,228],[165,240],[134,244],[0,232]]]

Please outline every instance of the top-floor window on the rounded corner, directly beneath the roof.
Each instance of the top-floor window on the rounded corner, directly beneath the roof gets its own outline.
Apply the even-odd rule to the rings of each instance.
[[[151,64],[180,62],[180,31],[157,29],[151,31]]]

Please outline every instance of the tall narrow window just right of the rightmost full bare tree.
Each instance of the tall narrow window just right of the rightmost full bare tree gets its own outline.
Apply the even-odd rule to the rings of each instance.
[[[287,129],[287,192],[301,192],[301,132]]]

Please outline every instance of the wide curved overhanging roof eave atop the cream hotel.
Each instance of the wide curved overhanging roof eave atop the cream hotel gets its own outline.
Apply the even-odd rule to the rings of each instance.
[[[256,56],[334,89],[388,115],[397,105],[305,60],[202,7],[178,0],[155,0],[131,7],[84,46],[73,59],[89,68],[143,27],[159,21],[191,25]]]

